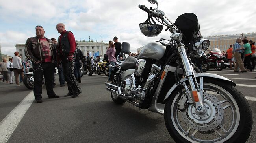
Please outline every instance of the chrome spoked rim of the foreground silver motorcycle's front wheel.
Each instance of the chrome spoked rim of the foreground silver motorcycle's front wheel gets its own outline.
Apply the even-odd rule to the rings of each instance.
[[[192,105],[186,107],[183,112],[178,110],[180,96],[177,94],[171,105],[173,125],[184,139],[192,143],[223,143],[230,139],[238,128],[240,121],[238,105],[232,95],[218,85],[204,83],[204,93],[206,93],[204,94],[204,108],[207,109],[209,107],[211,109],[207,109],[210,111],[209,115],[211,117],[207,118],[207,116],[202,115],[202,117],[205,117],[205,121],[201,119],[201,122],[198,117],[197,120],[193,119],[196,116],[193,116],[195,109],[193,109]],[[214,99],[219,105],[211,102]],[[212,104],[214,104],[215,111],[212,108]],[[211,127],[208,123],[211,123]]]

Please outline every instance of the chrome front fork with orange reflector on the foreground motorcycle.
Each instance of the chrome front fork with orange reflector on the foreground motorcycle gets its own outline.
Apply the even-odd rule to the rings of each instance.
[[[190,64],[189,59],[187,58],[186,49],[184,47],[184,44],[179,43],[179,44],[177,44],[176,48],[178,49],[178,53],[182,60],[183,68],[185,71],[185,76],[189,81],[191,91],[188,90],[185,83],[183,83],[183,86],[185,87],[187,94],[190,96],[194,105],[196,106],[197,112],[199,114],[203,113],[204,106],[203,106],[203,85],[202,85],[203,81],[202,81],[202,78],[200,79],[200,87],[199,87],[197,80],[195,78],[195,73],[194,73],[193,67]]]

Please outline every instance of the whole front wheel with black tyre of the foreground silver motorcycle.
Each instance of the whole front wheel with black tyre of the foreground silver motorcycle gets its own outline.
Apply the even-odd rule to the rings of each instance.
[[[204,112],[193,104],[180,102],[186,95],[174,91],[165,103],[165,125],[177,143],[245,143],[252,130],[252,111],[243,94],[234,86],[204,79]],[[185,109],[179,110],[181,103]]]

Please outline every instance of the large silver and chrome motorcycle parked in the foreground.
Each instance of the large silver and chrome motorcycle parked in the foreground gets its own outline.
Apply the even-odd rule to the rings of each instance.
[[[156,0],[148,1],[157,8],[139,5],[148,13],[146,22],[139,24],[141,32],[153,37],[165,25],[170,39],[148,43],[137,59],[110,65],[112,82],[105,84],[112,100],[163,114],[177,143],[245,143],[252,130],[252,111],[236,83],[193,70],[191,57],[201,57],[210,45],[200,33],[197,16],[185,13],[173,24]],[[128,54],[129,49],[123,42],[121,51]]]

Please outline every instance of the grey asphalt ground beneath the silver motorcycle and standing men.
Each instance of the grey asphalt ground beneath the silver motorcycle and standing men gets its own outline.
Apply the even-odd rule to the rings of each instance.
[[[249,100],[253,112],[253,129],[247,143],[254,143],[256,134],[256,71],[234,73],[224,69],[211,69],[237,83]],[[163,115],[139,110],[130,103],[116,105],[105,90],[107,76],[83,76],[82,93],[76,98],[64,97],[67,86],[60,87],[58,77],[54,91],[60,98],[48,99],[43,87],[43,103],[33,101],[8,143],[174,143],[169,135]],[[250,87],[250,85],[252,85]],[[16,87],[0,83],[0,121],[32,92],[24,85]],[[255,100],[255,101],[254,101]],[[2,123],[2,122],[1,122]],[[2,129],[0,129],[2,130]],[[0,141],[1,143],[1,141]]]

